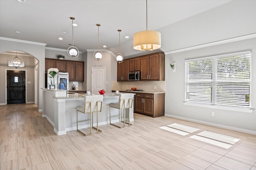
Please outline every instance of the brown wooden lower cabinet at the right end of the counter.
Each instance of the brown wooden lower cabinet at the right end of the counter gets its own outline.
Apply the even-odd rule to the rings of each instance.
[[[136,93],[134,112],[152,117],[164,116],[164,93]]]

